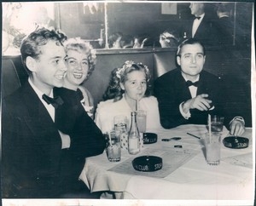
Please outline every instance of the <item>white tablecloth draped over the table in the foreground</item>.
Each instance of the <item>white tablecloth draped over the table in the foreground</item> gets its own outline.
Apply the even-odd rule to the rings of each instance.
[[[119,198],[136,199],[183,199],[183,200],[241,200],[253,203],[254,194],[254,157],[252,129],[242,136],[249,138],[246,149],[221,147],[221,161],[218,166],[207,164],[201,140],[187,134],[202,136],[207,132],[204,125],[182,125],[176,129],[160,129],[158,142],[144,145],[143,149],[173,148],[182,145],[183,149],[194,149],[198,153],[181,167],[165,178],[142,175],[119,174],[108,169],[133,157],[122,150],[119,163],[110,163],[105,152],[86,159],[80,179],[90,187],[91,192],[111,191]],[[228,135],[224,129],[222,138]],[[180,136],[182,140],[163,142],[162,138]],[[152,154],[154,155],[154,154]],[[172,158],[172,157],[170,157]],[[236,203],[239,203],[237,202]]]

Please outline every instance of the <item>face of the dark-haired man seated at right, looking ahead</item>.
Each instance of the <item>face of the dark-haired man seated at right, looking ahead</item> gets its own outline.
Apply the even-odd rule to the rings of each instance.
[[[195,80],[203,69],[206,56],[199,43],[183,45],[180,55],[177,56],[177,64],[181,67],[184,77]]]

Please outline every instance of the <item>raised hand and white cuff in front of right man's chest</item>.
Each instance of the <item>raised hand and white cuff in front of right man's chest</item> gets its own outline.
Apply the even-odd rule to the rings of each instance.
[[[200,94],[195,98],[187,100],[183,103],[182,109],[183,112],[187,113],[190,109],[198,109],[200,111],[207,111],[211,108],[210,104],[212,100],[206,99],[208,94]]]

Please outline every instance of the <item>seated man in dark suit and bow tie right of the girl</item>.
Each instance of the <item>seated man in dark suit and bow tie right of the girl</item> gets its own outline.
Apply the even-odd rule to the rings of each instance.
[[[231,111],[224,111],[224,98],[228,96],[218,77],[203,71],[205,60],[206,51],[197,40],[190,38],[179,45],[177,65],[180,68],[154,82],[160,123],[165,129],[186,123],[207,124],[209,113],[218,114],[225,117],[225,125],[230,124],[230,134],[242,134],[244,121],[241,117],[231,120]]]

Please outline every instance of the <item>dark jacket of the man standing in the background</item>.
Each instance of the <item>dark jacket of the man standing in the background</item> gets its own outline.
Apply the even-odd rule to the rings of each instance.
[[[193,23],[194,19],[185,22],[183,26],[183,30],[187,33],[187,38],[192,37]],[[216,45],[219,42],[217,28],[207,14],[201,20],[201,24],[198,26],[194,38],[201,41],[204,45]]]

